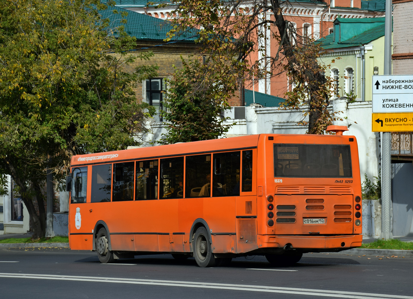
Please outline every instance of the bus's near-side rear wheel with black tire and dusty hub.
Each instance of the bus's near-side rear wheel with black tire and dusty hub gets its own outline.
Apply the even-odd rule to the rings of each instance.
[[[212,254],[211,242],[209,242],[209,234],[204,227],[198,228],[195,232],[192,243],[194,250],[194,258],[199,267],[214,267],[215,257]]]

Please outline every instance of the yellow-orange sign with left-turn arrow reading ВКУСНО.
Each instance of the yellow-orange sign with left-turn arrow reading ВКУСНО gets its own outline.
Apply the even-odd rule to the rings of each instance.
[[[371,131],[407,132],[413,131],[413,112],[372,113]]]

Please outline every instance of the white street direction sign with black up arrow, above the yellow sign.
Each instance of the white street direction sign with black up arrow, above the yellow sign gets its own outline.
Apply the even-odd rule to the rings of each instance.
[[[374,75],[372,101],[373,113],[413,112],[413,75]]]

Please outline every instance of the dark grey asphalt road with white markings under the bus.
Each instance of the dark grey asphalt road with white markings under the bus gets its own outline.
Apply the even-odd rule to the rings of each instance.
[[[304,254],[274,268],[261,256],[199,268],[194,259],[136,256],[101,264],[94,252],[0,248],[0,298],[404,298],[413,258]]]

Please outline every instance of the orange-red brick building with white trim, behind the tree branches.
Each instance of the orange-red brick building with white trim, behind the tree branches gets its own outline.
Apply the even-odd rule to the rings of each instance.
[[[171,17],[170,12],[173,10],[170,6],[157,8],[155,5],[147,5],[147,0],[116,0],[115,2],[117,7],[159,19]],[[249,3],[246,1],[245,7],[248,7]],[[297,36],[313,36],[316,39],[327,36],[333,31],[333,22],[337,17],[358,19],[385,15],[385,0],[294,0],[283,2],[282,5],[282,14],[294,28],[293,32]],[[270,34],[268,32],[268,36]],[[278,51],[277,41],[269,40],[265,43],[265,47],[265,53],[275,57]],[[258,55],[251,57],[252,60],[259,58],[261,57]],[[266,63],[265,59],[263,63]],[[252,89],[251,82],[247,82],[245,86]],[[277,97],[284,97],[284,93],[289,88],[291,86],[285,74],[268,76],[254,82],[255,91]]]

